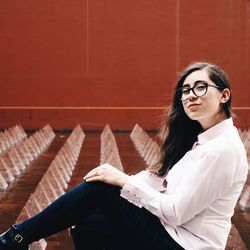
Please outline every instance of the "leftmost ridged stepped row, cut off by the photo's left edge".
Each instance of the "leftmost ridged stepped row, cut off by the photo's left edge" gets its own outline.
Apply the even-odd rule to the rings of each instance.
[[[6,153],[13,145],[27,137],[21,125],[13,126],[0,132],[0,155]]]

